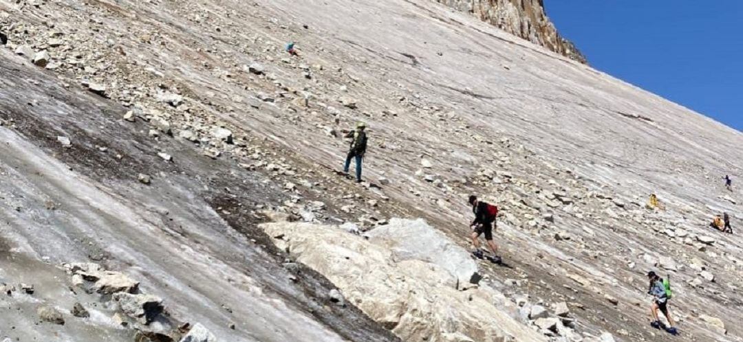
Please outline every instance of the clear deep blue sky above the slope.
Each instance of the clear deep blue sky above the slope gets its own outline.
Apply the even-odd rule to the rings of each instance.
[[[545,0],[588,63],[743,131],[743,0]]]

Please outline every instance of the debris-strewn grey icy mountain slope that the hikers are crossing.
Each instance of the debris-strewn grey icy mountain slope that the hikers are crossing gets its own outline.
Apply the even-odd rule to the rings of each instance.
[[[425,217],[469,247],[474,193],[501,205],[496,237],[512,269],[481,269],[514,300],[566,301],[581,333],[665,341],[647,325],[644,273],[670,257],[675,341],[740,340],[741,243],[707,223],[723,210],[740,219],[739,192],[719,178],[742,174],[743,137],[718,122],[431,1],[0,1],[0,10],[4,71],[17,75],[3,81],[0,131],[14,142],[5,154],[27,156],[4,168],[45,160],[54,165],[45,174],[64,176],[21,168],[2,189],[30,184],[16,197],[62,203],[90,191],[54,210],[68,224],[50,223],[44,200],[5,203],[11,256],[58,265],[106,255],[173,315],[225,341],[392,340],[354,308],[326,305],[332,286],[317,274],[294,284],[288,256],[255,228],[260,211],[367,228]],[[284,51],[290,41],[297,58]],[[47,68],[13,56],[22,45],[48,50]],[[90,82],[109,99],[91,95]],[[88,105],[71,106],[72,96]],[[135,122],[119,119],[127,111]],[[388,179],[382,188],[333,172],[345,157],[338,133],[359,120],[370,127],[365,175]],[[94,157],[96,145],[112,153]],[[139,173],[152,175],[150,187]],[[650,193],[666,211],[643,208]],[[111,206],[93,215],[89,203]],[[50,247],[56,239],[65,243]],[[716,281],[696,282],[701,268]],[[186,285],[193,274],[196,290]],[[727,336],[703,315],[724,320]]]

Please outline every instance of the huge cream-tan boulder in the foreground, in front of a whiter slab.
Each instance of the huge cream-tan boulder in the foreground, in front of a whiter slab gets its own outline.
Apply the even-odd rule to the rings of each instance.
[[[331,280],[348,303],[403,341],[545,341],[505,312],[510,308],[504,306],[513,304],[499,292],[487,287],[455,289],[456,277],[447,269],[412,255],[396,257],[400,251],[380,243],[384,234],[375,234],[372,240],[377,242],[371,242],[335,226],[261,227],[298,262]]]

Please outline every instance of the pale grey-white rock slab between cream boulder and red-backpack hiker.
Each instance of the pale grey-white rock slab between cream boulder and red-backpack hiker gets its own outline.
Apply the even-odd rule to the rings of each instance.
[[[446,270],[458,283],[468,283],[477,272],[470,253],[429,226],[423,219],[393,218],[386,226],[366,233],[371,243],[392,251],[396,260],[422,260]]]

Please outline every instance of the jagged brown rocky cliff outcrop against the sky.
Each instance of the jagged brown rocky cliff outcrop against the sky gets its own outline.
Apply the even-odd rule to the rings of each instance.
[[[550,21],[543,0],[435,0],[441,4],[472,13],[523,39],[554,52],[587,63],[585,56],[567,39],[560,36]]]

